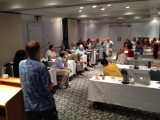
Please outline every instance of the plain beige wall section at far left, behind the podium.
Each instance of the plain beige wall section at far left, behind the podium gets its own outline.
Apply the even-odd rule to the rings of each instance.
[[[13,61],[19,49],[23,49],[20,15],[0,13],[0,73],[2,66]]]

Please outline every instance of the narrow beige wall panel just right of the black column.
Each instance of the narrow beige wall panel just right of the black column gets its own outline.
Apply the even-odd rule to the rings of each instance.
[[[75,19],[68,19],[68,41],[69,46],[72,41],[78,41],[78,21]]]

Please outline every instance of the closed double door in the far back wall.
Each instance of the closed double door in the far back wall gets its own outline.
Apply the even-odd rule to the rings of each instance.
[[[118,51],[123,47],[125,39],[130,39],[131,27],[130,25],[112,25],[109,26],[109,37],[114,42],[113,50]]]

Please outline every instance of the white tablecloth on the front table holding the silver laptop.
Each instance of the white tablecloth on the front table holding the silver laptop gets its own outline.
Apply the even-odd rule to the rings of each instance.
[[[122,78],[105,77],[105,80],[89,80],[88,100],[111,103],[125,107],[160,113],[160,84],[124,85]]]

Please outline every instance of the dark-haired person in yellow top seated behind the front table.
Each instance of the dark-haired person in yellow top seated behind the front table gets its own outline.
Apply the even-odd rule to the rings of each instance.
[[[101,64],[103,65],[103,74],[105,76],[114,76],[114,77],[122,77],[117,65],[115,63],[109,64],[106,59],[103,59],[101,61]]]

